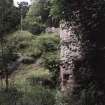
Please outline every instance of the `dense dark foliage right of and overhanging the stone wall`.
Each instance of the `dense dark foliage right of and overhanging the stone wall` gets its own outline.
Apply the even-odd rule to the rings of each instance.
[[[74,97],[70,96],[70,103],[104,105],[105,1],[52,0],[52,4],[51,13],[69,21],[68,25],[81,37],[83,59],[74,62],[74,75],[80,88],[75,89]]]

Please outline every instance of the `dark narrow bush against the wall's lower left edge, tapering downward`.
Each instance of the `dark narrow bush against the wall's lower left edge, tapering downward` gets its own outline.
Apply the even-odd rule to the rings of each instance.
[[[43,55],[44,66],[49,69],[51,79],[55,85],[59,84],[59,55],[58,52],[49,52]]]

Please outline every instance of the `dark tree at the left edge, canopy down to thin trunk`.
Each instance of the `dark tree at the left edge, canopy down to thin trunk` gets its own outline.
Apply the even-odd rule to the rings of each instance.
[[[6,89],[8,89],[8,62],[7,56],[10,56],[9,48],[6,46],[6,36],[12,31],[17,29],[17,25],[20,21],[19,11],[13,6],[12,0],[0,1],[0,59],[1,59],[1,75],[5,76]],[[17,17],[17,18],[16,18]],[[14,27],[14,28],[13,28]]]

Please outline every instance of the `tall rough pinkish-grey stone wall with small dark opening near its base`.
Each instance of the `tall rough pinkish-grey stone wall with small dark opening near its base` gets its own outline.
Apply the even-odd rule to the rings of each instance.
[[[81,43],[72,26],[60,24],[60,78],[61,91],[73,91],[77,87],[74,77],[74,61],[81,58]]]

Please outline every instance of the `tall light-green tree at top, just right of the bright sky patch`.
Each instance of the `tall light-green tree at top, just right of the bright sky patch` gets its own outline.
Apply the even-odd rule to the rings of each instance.
[[[23,20],[23,29],[29,30],[32,34],[40,34],[45,30],[46,21],[49,16],[49,2],[38,0],[32,3]]]

